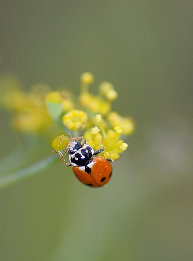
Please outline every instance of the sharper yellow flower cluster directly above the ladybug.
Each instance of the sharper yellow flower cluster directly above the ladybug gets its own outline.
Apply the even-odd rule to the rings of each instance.
[[[56,114],[60,115],[59,117],[66,130],[74,131],[74,136],[83,135],[94,150],[105,147],[100,155],[117,160],[120,153],[128,147],[127,143],[120,139],[120,136],[133,132],[134,121],[129,117],[122,117],[117,112],[111,111],[112,101],[118,97],[118,93],[110,82],[101,83],[99,93],[93,95],[89,92],[89,85],[94,82],[92,73],[83,73],[80,80],[81,87],[76,102],[77,106],[74,104],[73,109],[69,107],[66,113],[56,106],[58,108]],[[62,101],[61,98],[62,93],[60,93],[60,98],[56,100],[55,95],[56,92],[50,92],[47,95],[48,108],[51,107],[50,103],[54,104],[56,101],[60,101],[61,104],[65,103],[65,100]],[[50,112],[50,114],[52,113]],[[64,138],[58,136],[52,142],[52,147],[55,150],[62,150],[66,146],[65,143],[61,142],[61,137]]]

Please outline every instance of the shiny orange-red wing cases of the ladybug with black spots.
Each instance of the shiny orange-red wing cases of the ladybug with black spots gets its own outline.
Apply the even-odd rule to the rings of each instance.
[[[84,170],[84,166],[73,166],[73,172],[80,182],[91,187],[104,186],[111,178],[112,166],[104,157],[95,157],[87,165],[91,173]]]

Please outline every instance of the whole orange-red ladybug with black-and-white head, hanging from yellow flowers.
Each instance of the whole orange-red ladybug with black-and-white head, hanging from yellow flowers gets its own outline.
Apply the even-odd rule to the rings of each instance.
[[[79,139],[82,139],[81,143],[78,141]],[[84,137],[73,138],[71,134],[64,155],[61,151],[52,148],[55,153],[60,155],[65,166],[73,166],[72,170],[77,179],[90,187],[104,186],[111,178],[112,166],[110,161],[112,160],[101,156],[94,157],[104,149],[103,147],[94,151],[93,147],[86,144]],[[66,163],[64,157],[67,152],[69,153],[69,162]]]

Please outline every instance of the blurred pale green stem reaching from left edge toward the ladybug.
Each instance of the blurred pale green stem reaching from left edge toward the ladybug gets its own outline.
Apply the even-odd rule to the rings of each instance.
[[[60,158],[57,157],[57,155],[52,155],[24,169],[20,169],[13,173],[0,176],[0,188],[14,184],[18,182],[20,179],[24,179],[36,175],[38,172],[48,168],[51,164],[53,164],[58,159]]]

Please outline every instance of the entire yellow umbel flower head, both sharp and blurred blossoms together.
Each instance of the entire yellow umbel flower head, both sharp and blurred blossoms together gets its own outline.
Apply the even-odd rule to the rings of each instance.
[[[100,156],[117,160],[128,146],[123,137],[133,132],[135,123],[130,117],[112,111],[118,93],[110,82],[102,82],[97,95],[89,91],[94,82],[92,73],[81,74],[80,82],[77,97],[64,88],[53,91],[45,84],[36,84],[29,90],[35,101],[21,86],[14,86],[5,93],[2,104],[12,112],[11,123],[21,132],[39,134],[54,123],[60,126],[62,135],[52,142],[55,150],[65,149],[66,133],[70,132],[74,137],[84,136],[94,150],[105,147]]]

